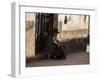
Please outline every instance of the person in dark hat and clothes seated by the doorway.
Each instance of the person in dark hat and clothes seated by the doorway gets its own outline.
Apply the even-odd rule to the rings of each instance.
[[[65,59],[66,55],[63,50],[62,44],[59,42],[57,35],[58,30],[54,29],[53,36],[49,35],[46,41],[46,49],[48,52],[48,58],[52,59]]]

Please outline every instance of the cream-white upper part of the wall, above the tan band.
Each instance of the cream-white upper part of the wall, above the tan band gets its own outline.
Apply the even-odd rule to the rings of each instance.
[[[65,16],[67,16],[67,23],[65,24]],[[59,15],[58,27],[62,27],[62,31],[88,29],[89,16],[87,15]]]

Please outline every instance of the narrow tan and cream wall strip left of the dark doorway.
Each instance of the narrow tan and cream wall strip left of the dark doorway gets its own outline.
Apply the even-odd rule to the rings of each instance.
[[[25,35],[26,57],[35,56],[35,14],[26,13],[26,35]]]

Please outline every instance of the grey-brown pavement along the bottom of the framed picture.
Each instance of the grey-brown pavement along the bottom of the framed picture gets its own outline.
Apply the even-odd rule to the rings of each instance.
[[[54,60],[45,59],[39,61],[32,61],[27,63],[26,67],[41,67],[41,66],[61,66],[61,65],[82,65],[90,63],[90,53],[87,52],[75,52],[68,53],[66,59]]]

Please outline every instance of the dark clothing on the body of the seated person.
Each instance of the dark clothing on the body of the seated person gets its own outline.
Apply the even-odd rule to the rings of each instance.
[[[49,36],[46,40],[45,49],[48,52],[48,58],[53,59],[64,59],[66,55],[64,54],[63,47],[55,43],[56,39],[53,39],[52,36]],[[56,40],[59,44],[59,41]]]

